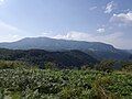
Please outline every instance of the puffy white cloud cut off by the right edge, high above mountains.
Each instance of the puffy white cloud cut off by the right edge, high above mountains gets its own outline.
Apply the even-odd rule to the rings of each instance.
[[[132,12],[113,14],[110,22],[132,25]]]

